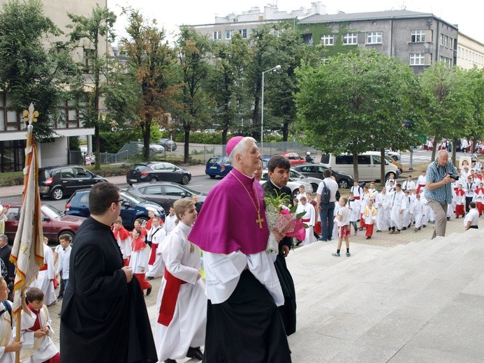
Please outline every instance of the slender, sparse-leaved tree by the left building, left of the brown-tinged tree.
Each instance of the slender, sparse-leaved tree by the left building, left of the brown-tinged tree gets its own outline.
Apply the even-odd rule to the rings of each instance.
[[[102,81],[107,77],[108,70],[108,54],[104,52],[100,43],[103,40],[114,40],[115,34],[112,29],[116,22],[116,15],[107,8],[101,8],[96,5],[92,9],[90,17],[84,15],[75,15],[68,13],[72,24],[68,25],[71,28],[71,41],[75,46],[81,47],[83,50],[83,59],[79,66],[83,73],[91,76],[87,77],[83,87],[78,89],[90,90],[84,95],[87,98],[87,105],[84,110],[85,126],[94,127],[94,148],[96,152],[95,169],[101,168],[101,158],[99,157],[99,128],[101,117],[100,100],[103,96]],[[102,44],[102,43],[101,43]]]

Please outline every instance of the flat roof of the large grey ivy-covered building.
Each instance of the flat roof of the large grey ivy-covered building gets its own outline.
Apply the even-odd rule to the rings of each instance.
[[[302,18],[300,24],[313,24],[313,23],[325,23],[325,22],[351,22],[357,20],[383,20],[383,19],[411,19],[416,17],[439,17],[432,13],[418,13],[410,10],[384,10],[384,11],[372,11],[369,13],[338,13],[338,14],[312,14]],[[441,20],[441,19],[439,19]],[[441,20],[443,21],[443,20]],[[443,21],[445,22],[445,21]],[[447,23],[452,27],[457,27],[453,24]]]

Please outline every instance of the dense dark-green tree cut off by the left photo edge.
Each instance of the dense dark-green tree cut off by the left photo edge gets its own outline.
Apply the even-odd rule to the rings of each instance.
[[[41,1],[17,0],[0,13],[0,84],[8,94],[9,109],[21,113],[34,103],[39,112],[34,127],[37,140],[50,138],[54,123],[62,123],[57,105],[68,95],[64,87],[75,76],[72,59],[60,43],[48,43],[61,31],[45,17]]]

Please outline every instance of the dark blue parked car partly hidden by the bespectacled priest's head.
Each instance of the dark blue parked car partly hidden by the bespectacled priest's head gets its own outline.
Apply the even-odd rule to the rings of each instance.
[[[119,191],[121,195],[121,212],[119,216],[123,219],[123,225],[127,229],[134,227],[134,221],[137,218],[142,220],[144,225],[148,219],[148,212],[151,210],[155,216],[159,216],[163,221],[165,220],[165,209],[155,202],[144,200],[138,195],[133,195],[128,191]],[[68,216],[89,216],[89,189],[76,191],[71,199],[66,203],[66,210],[64,214]]]

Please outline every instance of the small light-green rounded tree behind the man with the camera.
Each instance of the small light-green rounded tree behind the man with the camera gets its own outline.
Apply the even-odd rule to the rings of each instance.
[[[442,138],[455,140],[470,133],[474,112],[472,92],[463,71],[444,62],[427,68],[421,82],[428,99],[425,113],[430,125],[428,134],[434,135],[431,159],[434,160],[437,143]]]

